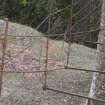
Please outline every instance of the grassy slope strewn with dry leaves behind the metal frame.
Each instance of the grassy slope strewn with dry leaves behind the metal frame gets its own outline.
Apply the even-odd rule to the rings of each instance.
[[[1,21],[1,27],[4,23]],[[3,30],[1,28],[1,33]],[[36,30],[19,25],[9,24],[9,35],[36,35],[43,36]],[[36,71],[44,70],[46,38],[15,38],[8,36],[5,57],[7,71]],[[63,41],[49,39],[48,70],[59,68],[58,71],[48,72],[48,87],[67,92],[88,95],[92,73],[65,70],[68,44]],[[71,44],[71,67],[94,69],[96,50],[83,45]],[[2,96],[0,105],[80,105],[83,99],[43,91],[44,75],[27,73],[4,73]]]

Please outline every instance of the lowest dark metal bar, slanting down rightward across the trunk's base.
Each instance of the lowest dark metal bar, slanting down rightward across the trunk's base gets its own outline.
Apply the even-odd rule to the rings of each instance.
[[[83,95],[79,95],[79,94],[75,94],[75,93],[68,93],[68,92],[65,92],[65,91],[52,89],[52,88],[49,88],[49,87],[47,87],[46,89],[50,90],[50,91],[57,92],[57,93],[62,93],[62,94],[70,95],[70,96],[75,96],[75,97],[80,97],[80,98],[84,98],[84,99],[89,99],[89,100],[92,100],[92,101],[98,101],[98,102],[105,103],[105,100],[101,100],[101,99],[91,98],[91,97],[88,97],[88,96],[83,96]]]

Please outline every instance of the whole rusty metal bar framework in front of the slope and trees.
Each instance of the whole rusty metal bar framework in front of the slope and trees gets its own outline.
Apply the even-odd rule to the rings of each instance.
[[[75,3],[76,4],[76,3]],[[75,4],[72,4],[75,5]],[[68,7],[71,7],[71,5],[69,5]],[[68,8],[66,7],[66,8]],[[66,8],[63,8],[61,10],[58,10],[57,12],[55,13],[51,13],[51,8],[50,8],[50,13],[49,13],[49,16],[37,27],[37,29],[39,29],[39,27],[47,20],[49,19],[49,27],[48,27],[48,34],[50,34],[50,28],[51,28],[51,16],[59,13],[59,12],[62,12],[64,9]],[[97,7],[96,7],[97,8]],[[87,16],[89,16],[91,13],[93,13],[95,10],[93,9],[89,14],[87,14]],[[72,15],[72,11],[71,11],[71,15]],[[87,17],[85,16],[85,17]],[[83,17],[81,20],[83,20],[85,17]],[[76,24],[80,23],[81,20],[79,20]],[[72,21],[72,17],[71,17],[71,21]],[[39,71],[29,71],[29,72],[21,72],[21,71],[6,71],[4,70],[4,61],[5,61],[5,51],[6,51],[6,45],[7,45],[7,37],[40,37],[40,38],[43,38],[44,36],[13,36],[13,35],[8,35],[8,19],[5,20],[5,23],[6,23],[6,26],[5,26],[5,32],[4,34],[2,34],[1,36],[4,36],[4,38],[1,38],[0,40],[3,40],[2,44],[3,44],[3,51],[2,51],[2,64],[1,64],[1,76],[0,76],[0,95],[1,95],[1,90],[2,90],[2,81],[3,81],[3,73],[44,73],[44,84],[43,84],[43,90],[50,90],[50,91],[54,91],[54,92],[57,92],[57,93],[61,93],[61,94],[66,94],[66,95],[70,95],[70,96],[76,96],[76,97],[80,97],[80,98],[84,98],[84,99],[88,99],[89,101],[90,100],[93,100],[93,101],[98,101],[98,102],[103,102],[105,103],[105,100],[101,100],[101,99],[95,99],[95,98],[91,98],[91,97],[88,97],[88,96],[82,96],[82,95],[79,95],[79,94],[74,94],[74,93],[68,93],[68,92],[65,92],[65,91],[62,91],[62,90],[57,90],[57,89],[52,89],[50,87],[47,87],[47,73],[48,72],[53,72],[53,71],[60,71],[60,70],[77,70],[77,71],[86,71],[86,72],[95,72],[95,73],[101,73],[101,74],[105,74],[104,71],[96,71],[96,70],[88,70],[88,69],[81,69],[81,68],[74,68],[74,67],[70,67],[68,66],[68,56],[70,56],[70,47],[69,47],[69,50],[68,50],[68,53],[67,53],[67,64],[63,67],[63,68],[56,68],[56,69],[52,69],[52,70],[48,70],[48,49],[49,49],[49,39],[48,39],[48,34],[47,34],[47,40],[46,40],[46,58],[45,58],[45,70],[41,71],[40,70],[40,67],[39,67]],[[75,24],[75,25],[76,25]],[[75,26],[74,25],[74,26]],[[72,26],[71,26],[72,27]],[[101,29],[96,29],[96,30],[89,30],[89,31],[84,31],[84,32],[76,32],[76,33],[72,33],[70,32],[71,35],[76,35],[76,34],[82,34],[82,33],[90,33],[90,32],[94,32],[94,31],[100,31]],[[57,34],[55,35],[57,36]],[[64,33],[63,34],[59,34],[58,35],[59,37],[63,37],[64,36]],[[50,35],[50,37],[54,37],[54,35]],[[84,41],[82,40],[82,42],[86,42],[86,43],[92,43],[92,44],[99,44],[99,45],[105,45],[105,43],[99,43],[99,42],[91,42],[91,41]],[[28,48],[28,47],[27,47]],[[24,49],[25,50],[25,49]],[[23,53],[24,50],[20,53]],[[20,54],[19,53],[19,54]],[[19,55],[17,54],[17,56]],[[9,61],[8,61],[9,62]],[[7,63],[8,63],[7,62]]]

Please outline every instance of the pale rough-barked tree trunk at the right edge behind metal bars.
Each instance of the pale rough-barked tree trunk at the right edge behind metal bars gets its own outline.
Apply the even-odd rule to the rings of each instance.
[[[101,31],[98,42],[105,44],[105,0],[102,4]],[[105,71],[105,45],[97,45],[96,70]],[[105,74],[94,73],[89,96],[92,98],[105,100]],[[90,101],[87,105],[105,105],[105,103]]]

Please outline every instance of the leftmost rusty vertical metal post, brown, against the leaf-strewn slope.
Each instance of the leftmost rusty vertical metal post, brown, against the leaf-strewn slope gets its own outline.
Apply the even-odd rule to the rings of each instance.
[[[7,45],[7,35],[8,35],[8,19],[5,19],[6,25],[5,25],[5,32],[4,32],[4,38],[2,42],[2,59],[1,59],[1,75],[0,75],[0,96],[1,96],[1,90],[2,90],[2,83],[3,83],[3,70],[4,70],[4,63],[5,63],[5,53],[6,53],[6,45]]]

